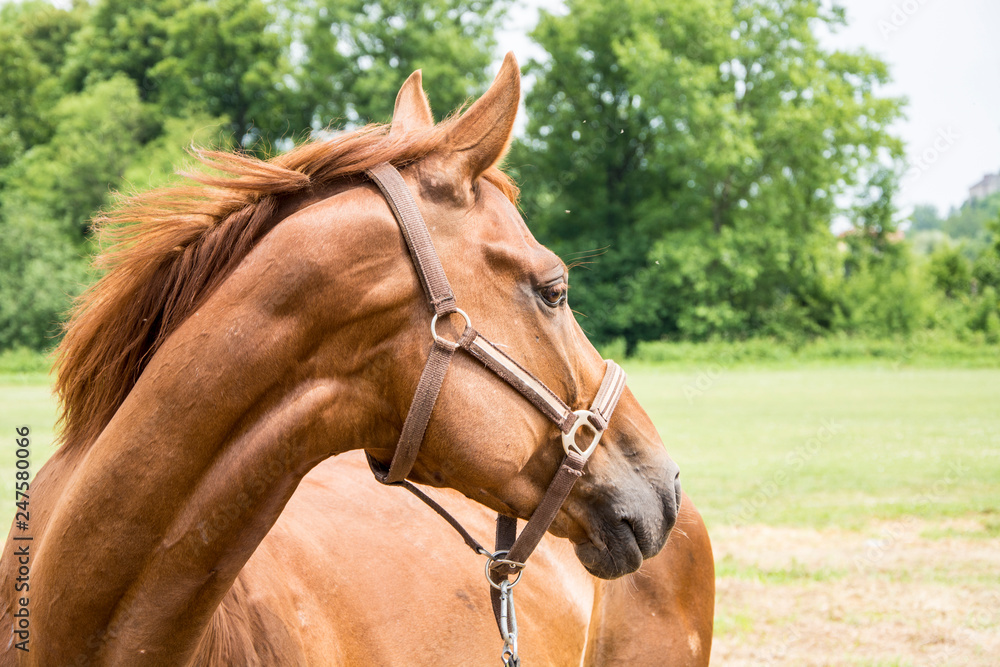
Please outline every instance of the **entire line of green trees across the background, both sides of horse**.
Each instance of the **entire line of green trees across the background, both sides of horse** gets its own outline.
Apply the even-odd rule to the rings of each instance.
[[[901,241],[902,101],[817,40],[817,0],[570,0],[542,14],[508,164],[596,339],[939,329],[1000,338],[1000,200]],[[439,116],[480,92],[508,2],[40,0],[0,6],[0,349],[45,348],[93,276],[89,221],[196,145],[266,156],[385,121],[422,68]],[[850,225],[839,238],[837,222]]]

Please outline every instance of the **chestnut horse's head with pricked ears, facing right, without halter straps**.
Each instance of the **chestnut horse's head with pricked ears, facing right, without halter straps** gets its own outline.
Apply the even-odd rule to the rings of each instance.
[[[465,113],[436,128],[420,72],[396,100],[390,138],[405,140],[436,129],[441,141],[401,173],[430,229],[456,302],[475,329],[533,373],[573,409],[589,406],[605,362],[574,318],[566,265],[535,240],[525,221],[490,177],[511,140],[520,100],[520,72],[508,55],[490,89]],[[498,187],[501,186],[501,187]],[[388,220],[388,206],[384,216]],[[384,224],[391,224],[385,222]],[[430,313],[405,251],[381,276],[391,289],[383,313],[393,350],[391,413],[406,414],[432,332]],[[390,278],[391,276],[391,278]],[[391,295],[391,296],[389,296]],[[456,339],[458,316],[439,323]],[[385,374],[382,374],[385,380]],[[558,428],[532,403],[469,356],[458,354],[443,382],[410,477],[449,486],[497,511],[528,518],[563,455]],[[370,447],[382,461],[391,449]],[[636,570],[663,547],[680,503],[679,471],[649,417],[625,389],[619,406],[551,532],[576,544],[593,574],[613,578]]]

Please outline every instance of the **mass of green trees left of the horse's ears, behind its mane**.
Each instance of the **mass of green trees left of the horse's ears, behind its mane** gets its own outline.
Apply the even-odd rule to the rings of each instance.
[[[116,190],[163,184],[192,143],[267,153],[334,116],[387,120],[418,67],[439,109],[458,106],[488,81],[508,4],[0,6],[0,347],[53,341]]]

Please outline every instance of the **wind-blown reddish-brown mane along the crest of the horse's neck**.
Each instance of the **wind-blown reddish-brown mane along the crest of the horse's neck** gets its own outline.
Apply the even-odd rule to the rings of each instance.
[[[64,448],[97,439],[163,341],[280,222],[279,206],[381,162],[404,166],[441,147],[457,116],[392,136],[369,125],[268,161],[194,151],[203,165],[178,184],[123,198],[95,218],[103,277],[81,294],[56,348]],[[483,177],[512,201],[496,167]]]

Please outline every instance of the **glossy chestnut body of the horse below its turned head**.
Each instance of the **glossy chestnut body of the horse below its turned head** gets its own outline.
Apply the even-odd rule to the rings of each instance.
[[[492,532],[495,516],[486,508],[453,491],[430,493],[475,534]],[[361,457],[346,454],[306,476],[216,621],[227,637],[249,638],[261,636],[250,631],[253,619],[280,619],[281,630],[268,633],[283,647],[280,664],[300,664],[289,656],[324,665],[499,664],[482,565],[419,500],[381,487]],[[593,577],[573,558],[572,544],[547,535],[517,586],[522,660],[707,665],[713,582],[708,536],[687,498],[677,533],[625,579]],[[234,631],[233,618],[247,630]],[[212,632],[194,663],[273,664],[276,652]]]

